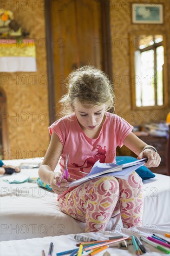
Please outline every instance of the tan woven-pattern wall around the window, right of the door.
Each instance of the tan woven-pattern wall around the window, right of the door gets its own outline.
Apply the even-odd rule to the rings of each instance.
[[[167,44],[167,66],[170,70],[170,1],[156,0],[155,3],[163,4],[164,23],[157,24],[132,24],[131,23],[131,3],[133,0],[111,0],[111,52],[113,65],[113,83],[116,95],[116,113],[133,126],[138,126],[150,121],[165,121],[170,108],[150,111],[131,110],[131,80],[130,80],[130,41],[129,33],[140,30],[161,30],[166,34]],[[139,3],[148,1],[140,0]],[[153,3],[150,1],[150,3]],[[167,70],[167,72],[168,72]],[[168,84],[170,84],[170,72],[168,72]],[[170,95],[170,87],[169,87]],[[170,107],[170,106],[169,106]],[[134,114],[136,113],[136,114]],[[154,118],[154,119],[153,119]]]

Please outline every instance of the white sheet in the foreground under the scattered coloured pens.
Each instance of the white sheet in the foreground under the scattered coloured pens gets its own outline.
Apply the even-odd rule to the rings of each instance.
[[[157,234],[164,235],[166,232],[170,232],[170,225],[167,224],[159,224],[157,225]],[[132,228],[132,229],[122,229],[120,232],[105,232],[103,233],[83,233],[82,235],[93,237],[96,240],[106,240],[109,239],[109,236],[150,236],[153,233],[152,228],[146,229],[144,228]],[[166,238],[168,239],[168,238]],[[48,255],[48,249],[50,243],[54,244],[52,256],[56,256],[56,253],[76,249],[76,240],[74,240],[74,235],[67,235],[67,236],[48,236],[44,238],[33,238],[33,239],[26,239],[26,240],[18,240],[18,241],[7,241],[7,242],[0,242],[0,255],[1,256],[41,256],[41,251],[45,250],[45,254]],[[167,255],[163,253],[161,250],[158,250],[146,243],[144,246],[147,252],[144,256],[162,256]],[[166,248],[168,249],[168,248]],[[118,249],[116,247],[112,247],[106,249],[111,256],[135,256],[135,251],[133,246],[129,246],[128,250]],[[105,251],[96,254],[96,256],[102,256]],[[67,254],[68,255],[68,254]],[[70,254],[69,254],[70,255]],[[83,255],[83,254],[82,254]]]

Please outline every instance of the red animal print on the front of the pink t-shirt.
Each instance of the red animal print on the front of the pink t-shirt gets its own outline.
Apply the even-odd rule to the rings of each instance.
[[[105,154],[107,153],[107,151],[105,150],[106,146],[104,146],[104,148],[100,145],[97,146],[97,153],[93,155],[93,157],[88,157],[87,159],[85,159],[85,162],[82,165],[78,165],[77,163],[72,163],[72,165],[77,168],[80,167],[80,171],[83,172],[83,168],[92,167],[98,160],[100,160],[101,163],[105,163]]]

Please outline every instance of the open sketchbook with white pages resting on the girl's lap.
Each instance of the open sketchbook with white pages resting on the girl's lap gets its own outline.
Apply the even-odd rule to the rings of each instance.
[[[113,175],[116,178],[127,180],[129,175],[137,170],[137,168],[144,165],[147,162],[147,158],[143,158],[134,162],[117,164],[117,163],[100,163],[99,160],[95,162],[89,174],[85,177],[73,182],[69,182],[69,188],[78,186],[84,182],[92,180],[99,176]],[[121,161],[119,161],[121,162]]]

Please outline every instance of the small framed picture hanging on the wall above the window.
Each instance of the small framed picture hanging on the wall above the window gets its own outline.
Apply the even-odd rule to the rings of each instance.
[[[163,5],[157,3],[132,3],[132,23],[163,24]]]

